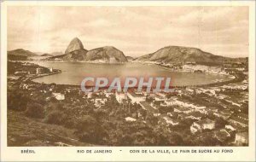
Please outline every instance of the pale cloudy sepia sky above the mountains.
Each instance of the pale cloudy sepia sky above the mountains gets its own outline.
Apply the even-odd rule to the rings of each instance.
[[[8,7],[8,50],[114,46],[137,57],[170,45],[248,56],[248,7]]]

